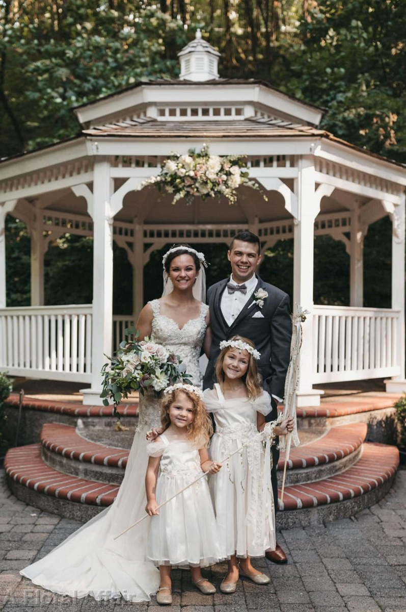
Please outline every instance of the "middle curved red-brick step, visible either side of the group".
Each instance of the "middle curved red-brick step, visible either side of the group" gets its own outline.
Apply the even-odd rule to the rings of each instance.
[[[367,426],[335,427],[304,446],[292,448],[287,465],[286,482],[295,484],[333,476],[349,468],[358,459]],[[120,484],[127,465],[128,450],[88,441],[75,428],[49,423],[43,425],[42,458],[50,467],[79,476]],[[283,453],[278,470],[284,467]],[[281,483],[282,473],[278,474]]]

